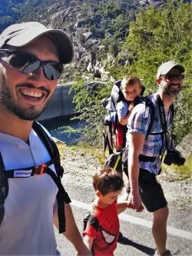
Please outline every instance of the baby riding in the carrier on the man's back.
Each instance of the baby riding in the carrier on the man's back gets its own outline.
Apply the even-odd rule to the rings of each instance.
[[[134,105],[141,99],[142,85],[139,78],[127,76],[123,78],[120,86],[122,95],[121,101],[117,104],[118,123],[113,124],[116,151],[121,151],[125,145],[125,134],[127,131],[127,121],[131,115]]]

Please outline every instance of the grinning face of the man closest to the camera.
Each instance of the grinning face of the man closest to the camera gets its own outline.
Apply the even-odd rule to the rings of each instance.
[[[41,36],[31,44],[19,48],[41,61],[58,62],[58,53],[48,36]],[[24,120],[34,120],[48,104],[57,80],[45,78],[43,68],[23,74],[0,59],[0,111],[14,114]]]

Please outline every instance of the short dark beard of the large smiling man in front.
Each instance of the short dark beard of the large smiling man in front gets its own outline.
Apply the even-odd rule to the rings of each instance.
[[[41,110],[35,109],[35,106],[31,106],[27,109],[22,108],[21,106],[19,106],[19,102],[12,97],[12,91],[10,90],[10,88],[8,88],[5,77],[2,74],[0,74],[0,77],[0,105],[2,105],[2,108],[6,108],[7,111],[12,112],[14,115],[18,116],[18,118],[21,118],[22,120],[33,121],[38,118],[45,110],[48,102]],[[33,85],[28,85],[28,87],[31,86]]]

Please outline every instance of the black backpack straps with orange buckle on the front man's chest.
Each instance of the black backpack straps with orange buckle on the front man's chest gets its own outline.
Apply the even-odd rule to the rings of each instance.
[[[51,156],[51,161],[48,161],[47,163],[43,163],[39,166],[31,166],[28,168],[19,168],[18,171],[27,171],[31,174],[28,176],[33,175],[43,175],[47,173],[51,176],[53,181],[55,181],[55,184],[58,186],[58,194],[57,194],[57,202],[58,202],[58,222],[59,222],[59,233],[65,232],[65,203],[68,204],[71,202],[68,193],[65,191],[65,188],[61,184],[61,178],[64,173],[64,169],[61,166],[60,161],[60,155],[58,152],[58,148],[55,145],[55,142],[51,140],[51,138],[47,135],[44,128],[41,127],[41,125],[34,121],[32,128],[37,133],[38,137],[41,138],[41,141],[44,143],[45,147],[48,150],[49,155]],[[55,165],[55,170],[57,175],[55,175],[54,171],[51,171],[49,168],[50,165]],[[4,162],[2,159],[2,155],[0,152],[0,224],[2,223],[5,209],[4,209],[4,203],[5,199],[8,196],[8,178],[14,178],[14,173],[17,171],[17,169],[12,170],[6,170]],[[26,178],[26,177],[22,177]]]

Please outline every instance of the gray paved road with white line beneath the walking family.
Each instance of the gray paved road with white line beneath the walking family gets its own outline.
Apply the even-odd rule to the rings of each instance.
[[[82,231],[83,217],[87,212],[88,204],[94,198],[94,191],[91,185],[87,188],[80,184],[75,185],[70,182],[71,177],[65,177],[65,188],[72,199],[72,210],[74,218],[78,224],[79,230]],[[70,178],[70,180],[69,180]],[[75,183],[77,184],[77,183]],[[178,207],[173,200],[174,191],[165,190],[167,201],[169,201],[170,218],[168,220],[167,248],[172,253],[180,256],[192,255],[192,233],[191,232],[191,214],[190,208]],[[74,200],[73,200],[74,199]],[[115,256],[142,256],[154,254],[154,240],[151,234],[152,216],[147,211],[136,213],[127,209],[120,215],[121,232],[124,234],[124,241],[118,243]],[[58,250],[61,256],[73,256],[75,251],[73,246],[56,231]]]

